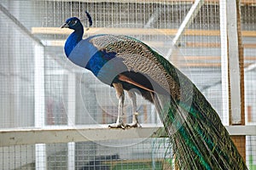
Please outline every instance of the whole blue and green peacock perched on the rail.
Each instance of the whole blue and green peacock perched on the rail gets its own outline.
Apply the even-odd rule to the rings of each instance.
[[[61,28],[73,29],[64,47],[67,59],[116,91],[118,116],[109,127],[140,127],[136,94],[141,94],[155,105],[180,169],[247,169],[212,105],[188,77],[147,44],[124,35],[83,39],[84,27],[77,17],[67,19]],[[131,124],[122,120],[124,90],[132,101]]]

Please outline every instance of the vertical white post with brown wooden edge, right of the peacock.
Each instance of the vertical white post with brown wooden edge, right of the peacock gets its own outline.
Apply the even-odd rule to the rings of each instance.
[[[230,68],[230,125],[245,125],[244,59],[241,42],[240,0],[227,0]],[[234,14],[235,13],[235,14]],[[246,136],[232,136],[237,150],[246,161]]]

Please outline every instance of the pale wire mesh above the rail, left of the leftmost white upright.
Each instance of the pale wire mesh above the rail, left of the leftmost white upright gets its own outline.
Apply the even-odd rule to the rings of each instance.
[[[14,13],[16,10],[10,9]],[[1,125],[29,127],[33,125],[33,51],[32,41],[1,11]],[[8,32],[12,32],[11,34]],[[22,58],[22,56],[26,56]],[[31,63],[30,67],[27,64]],[[30,117],[30,118],[26,118]]]

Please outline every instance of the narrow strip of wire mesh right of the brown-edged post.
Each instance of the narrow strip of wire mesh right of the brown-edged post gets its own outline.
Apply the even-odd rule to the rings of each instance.
[[[247,1],[247,4],[241,6],[241,31],[242,31],[242,45],[243,45],[243,59],[245,66],[245,111],[246,124],[255,125],[255,83],[254,77],[256,70],[255,52],[256,52],[256,37],[252,37],[253,31],[256,28],[256,8],[253,0]],[[245,32],[250,32],[246,35]],[[256,155],[255,155],[255,136],[247,136],[246,139],[246,156],[247,165],[249,169],[255,169]]]

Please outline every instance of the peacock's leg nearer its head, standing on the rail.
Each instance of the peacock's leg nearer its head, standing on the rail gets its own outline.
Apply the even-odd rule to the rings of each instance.
[[[124,115],[123,107],[124,107],[124,101],[125,101],[124,88],[121,83],[113,83],[113,88],[115,89],[117,99],[119,99],[118,116],[117,116],[116,122],[108,125],[108,127],[110,127],[110,128],[125,128],[125,124],[122,120],[122,117]]]

